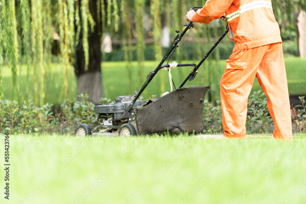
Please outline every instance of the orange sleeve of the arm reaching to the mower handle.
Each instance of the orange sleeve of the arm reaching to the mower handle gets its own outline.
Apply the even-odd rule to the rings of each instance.
[[[233,0],[207,0],[204,7],[192,17],[192,21],[209,24],[212,20],[222,17],[232,3]]]

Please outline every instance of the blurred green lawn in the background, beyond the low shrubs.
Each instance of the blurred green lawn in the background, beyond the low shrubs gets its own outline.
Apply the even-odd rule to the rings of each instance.
[[[197,61],[178,61],[179,63],[197,63]],[[212,61],[212,66],[216,67],[216,62]],[[146,61],[144,63],[144,80],[146,79],[147,74],[154,70],[157,66],[157,62],[155,61]],[[219,76],[222,75],[225,69],[225,60],[219,61],[220,65],[220,73]],[[306,72],[305,72],[305,64],[306,59],[301,59],[299,57],[286,57],[285,65],[287,70],[287,79],[289,86],[289,95],[292,94],[305,94],[306,93]],[[134,95],[133,91],[139,91],[141,86],[138,77],[138,62],[132,62],[132,92],[129,91],[128,85],[129,80],[127,76],[127,71],[125,68],[125,62],[103,62],[103,91],[104,96],[114,100],[117,96],[121,95]],[[182,76],[185,78],[192,68],[178,68],[181,69]],[[178,69],[171,70],[171,74],[173,80],[178,87],[180,82],[183,79],[179,78]],[[277,68],[275,68],[277,69]],[[50,70],[50,71],[49,71]],[[168,72],[165,70],[161,70],[159,72],[164,76],[164,85],[166,91],[170,92],[169,78]],[[160,74],[156,75],[155,78],[151,81],[145,92],[143,93],[144,98],[149,98],[150,95],[160,96],[161,94],[161,80]],[[219,98],[219,87],[214,84],[209,83],[209,78],[214,75],[209,74],[207,71],[207,63],[204,63],[200,69],[199,74],[196,76],[196,79],[192,82],[187,82],[186,86],[192,85],[203,85],[203,86],[212,86],[211,92],[215,92],[217,97]],[[67,98],[64,94],[63,87],[63,77],[64,77],[64,69],[60,64],[51,64],[50,69],[47,69],[47,77],[46,77],[46,98],[45,102],[53,103],[53,104],[61,104],[63,99]],[[24,65],[21,66],[21,75],[19,76],[21,90],[23,95],[25,95],[25,99],[27,99],[26,93],[26,68]],[[212,81],[214,81],[211,78]],[[31,84],[33,86],[33,77],[31,77]],[[11,73],[7,66],[4,67],[3,73],[3,84],[4,84],[4,95],[6,99],[13,99],[13,91],[12,91],[12,79]],[[70,68],[69,71],[69,84],[70,84],[70,99],[76,98],[76,77],[73,72],[73,68]],[[141,84],[142,85],[142,84]],[[253,91],[260,90],[257,79],[254,81],[254,85],[252,88]],[[33,90],[32,90],[33,92]],[[251,93],[252,93],[251,92]]]

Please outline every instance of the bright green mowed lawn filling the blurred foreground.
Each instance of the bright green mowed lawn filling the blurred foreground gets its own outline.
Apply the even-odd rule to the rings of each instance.
[[[4,149],[4,136],[0,136]],[[1,203],[306,203],[306,135],[199,139],[10,135]],[[4,187],[4,158],[0,186]]]

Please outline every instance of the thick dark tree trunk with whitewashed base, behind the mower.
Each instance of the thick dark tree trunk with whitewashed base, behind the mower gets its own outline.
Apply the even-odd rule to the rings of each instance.
[[[97,0],[89,0],[89,9],[95,22],[98,22],[97,18]],[[77,78],[77,94],[84,94],[87,92],[88,101],[100,103],[100,98],[103,97],[102,86],[102,74],[101,74],[101,43],[100,43],[100,31],[98,24],[95,24],[94,32],[91,32],[90,25],[88,27],[88,45],[89,45],[89,64],[88,70],[85,71],[85,57],[80,40],[79,45],[76,48],[76,65],[75,74]],[[82,33],[80,39],[82,39]]]

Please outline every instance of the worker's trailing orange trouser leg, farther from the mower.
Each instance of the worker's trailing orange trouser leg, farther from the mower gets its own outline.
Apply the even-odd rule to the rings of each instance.
[[[292,123],[282,43],[271,44],[256,74],[268,98],[269,113],[275,123],[276,139],[292,139]]]

